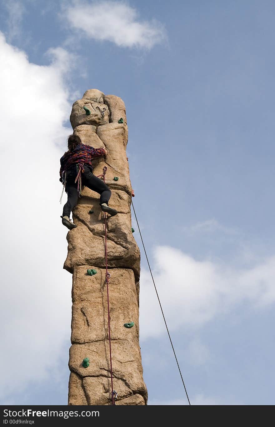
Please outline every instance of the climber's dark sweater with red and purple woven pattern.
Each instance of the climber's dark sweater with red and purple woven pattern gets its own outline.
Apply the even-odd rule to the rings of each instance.
[[[60,159],[60,179],[62,182],[62,173],[66,172],[70,166],[73,164],[84,163],[88,164],[92,168],[91,161],[95,157],[100,157],[105,155],[104,148],[94,148],[89,145],[79,144],[72,151],[66,151]]]

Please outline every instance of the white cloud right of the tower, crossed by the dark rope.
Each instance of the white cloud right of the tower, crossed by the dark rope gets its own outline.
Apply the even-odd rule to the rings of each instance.
[[[200,328],[247,301],[253,310],[275,302],[275,257],[247,269],[196,261],[178,249],[155,249],[153,276],[170,331]],[[150,323],[150,326],[148,322]],[[140,279],[140,339],[166,333],[152,278]]]

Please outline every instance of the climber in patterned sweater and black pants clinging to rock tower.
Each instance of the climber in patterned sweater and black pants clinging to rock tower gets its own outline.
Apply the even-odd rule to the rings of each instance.
[[[81,195],[81,186],[85,185],[100,194],[101,210],[110,213],[111,216],[117,214],[115,209],[108,206],[111,197],[111,190],[101,179],[93,174],[91,161],[108,153],[104,148],[94,148],[82,144],[78,135],[68,137],[68,151],[60,159],[60,179],[63,188],[67,193],[68,200],[64,205],[62,213],[62,224],[69,230],[76,227],[70,220],[70,213],[76,206],[77,199]]]

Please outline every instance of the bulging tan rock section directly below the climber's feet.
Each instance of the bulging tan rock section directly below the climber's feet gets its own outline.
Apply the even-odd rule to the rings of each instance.
[[[84,197],[73,211],[73,222],[77,228],[67,234],[68,255],[64,268],[69,272],[73,272],[76,266],[86,264],[105,266],[104,214],[99,206],[99,197],[86,187],[82,194]],[[125,191],[112,190],[109,205],[119,213],[107,219],[108,266],[131,268],[136,280],[139,280],[140,252],[131,231],[130,201]],[[91,209],[94,213],[89,213]]]

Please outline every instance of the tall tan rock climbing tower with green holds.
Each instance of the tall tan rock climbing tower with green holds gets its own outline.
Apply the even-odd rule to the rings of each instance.
[[[107,167],[105,182],[112,191],[109,205],[118,211],[116,216],[106,215],[115,404],[145,405],[147,390],[138,323],[140,252],[132,233],[124,102],[114,95],[105,96],[97,89],[90,89],[74,102],[70,123],[82,143],[108,151],[106,159],[95,160],[93,166],[95,175],[101,175],[103,167]],[[73,222],[77,228],[67,234],[68,254],[64,263],[64,269],[73,274],[68,404],[110,405],[105,226],[99,194],[82,187]],[[96,274],[88,275],[88,270]]]

